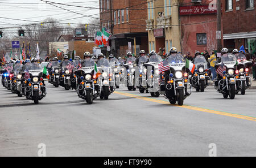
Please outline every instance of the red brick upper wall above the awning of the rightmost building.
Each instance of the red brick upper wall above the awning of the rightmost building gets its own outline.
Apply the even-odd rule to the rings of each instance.
[[[256,0],[254,0],[254,10],[246,10],[245,0],[238,2],[233,0],[233,11],[225,11],[226,0],[221,2],[224,34],[256,31]],[[236,10],[238,6],[240,10]]]

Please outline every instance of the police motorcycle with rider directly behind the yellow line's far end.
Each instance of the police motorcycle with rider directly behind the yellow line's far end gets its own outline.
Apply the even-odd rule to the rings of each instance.
[[[117,58],[114,57],[114,55],[109,55],[109,63],[112,68],[113,72],[113,78],[115,82],[115,88],[119,88],[119,85],[121,84],[121,67],[119,66],[119,61]]]

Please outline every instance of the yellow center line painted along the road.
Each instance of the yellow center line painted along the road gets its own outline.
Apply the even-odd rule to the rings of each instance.
[[[118,92],[118,91],[115,91],[114,93],[115,93],[115,94],[120,94],[120,95],[122,95],[122,96],[128,96],[128,97],[138,98],[138,99],[145,100],[145,101],[157,102],[157,103],[159,103],[159,104],[168,104],[168,105],[171,105],[170,102],[168,102],[168,101],[156,100],[156,99],[154,99],[154,98],[142,97],[142,96],[138,96],[138,95],[135,95],[135,94],[123,93],[123,92]],[[240,119],[246,119],[246,120],[256,121],[256,118],[255,118],[255,117],[249,117],[249,116],[240,115],[240,114],[226,113],[226,112],[217,111],[217,110],[209,110],[209,109],[204,109],[204,108],[201,108],[201,107],[193,107],[193,106],[188,106],[188,105],[183,105],[183,106],[171,105],[171,106],[181,107],[181,108],[185,108],[185,109],[189,109],[189,110],[195,110],[195,111],[202,111],[202,112],[205,112],[205,113],[212,113],[212,114],[218,114],[218,115],[225,115],[225,116],[228,116],[228,117],[234,117],[234,118],[240,118]]]

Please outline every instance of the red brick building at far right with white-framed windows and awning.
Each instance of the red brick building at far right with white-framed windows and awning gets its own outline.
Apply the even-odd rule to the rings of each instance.
[[[256,48],[256,0],[221,0],[223,46]]]

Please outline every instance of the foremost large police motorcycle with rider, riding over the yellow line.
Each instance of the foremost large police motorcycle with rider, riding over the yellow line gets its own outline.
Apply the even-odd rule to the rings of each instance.
[[[185,59],[183,55],[177,54],[176,48],[171,48],[170,55],[163,62],[166,61],[170,70],[161,74],[160,94],[164,94],[171,104],[176,104],[177,101],[181,106],[192,92],[191,84],[188,83],[188,73],[185,72]]]

